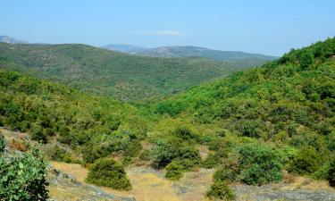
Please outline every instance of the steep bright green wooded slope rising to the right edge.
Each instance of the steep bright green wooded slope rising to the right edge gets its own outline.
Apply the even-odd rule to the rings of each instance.
[[[296,143],[329,135],[335,114],[335,38],[293,50],[261,68],[234,73],[155,107],[156,113],[217,122],[239,136],[274,140],[280,131]],[[282,133],[281,133],[282,134]],[[289,138],[288,137],[288,138]],[[318,147],[320,148],[320,147]]]

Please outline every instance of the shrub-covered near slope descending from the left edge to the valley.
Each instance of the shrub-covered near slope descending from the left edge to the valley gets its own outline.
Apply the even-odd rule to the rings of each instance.
[[[39,142],[55,137],[79,147],[84,163],[113,152],[137,156],[148,123],[134,106],[10,71],[0,71],[0,119]],[[69,155],[64,160],[70,162]]]

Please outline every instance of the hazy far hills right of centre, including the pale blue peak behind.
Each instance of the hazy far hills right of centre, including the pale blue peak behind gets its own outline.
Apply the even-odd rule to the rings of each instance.
[[[142,46],[132,46],[132,45],[107,45],[102,46],[105,49],[110,49],[113,51],[119,51],[122,53],[136,54],[142,56],[152,56],[152,57],[204,57],[209,59],[214,59],[218,61],[231,61],[240,59],[261,59],[264,61],[270,61],[276,59],[275,56],[264,55],[264,54],[253,54],[245,53],[240,51],[221,51],[213,50],[200,46],[160,46],[156,48],[146,48]]]

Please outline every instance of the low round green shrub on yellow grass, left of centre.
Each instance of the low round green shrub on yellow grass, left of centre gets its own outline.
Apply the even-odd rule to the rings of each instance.
[[[112,158],[101,158],[93,163],[86,180],[98,186],[115,189],[130,190],[131,184],[121,163],[116,163]]]

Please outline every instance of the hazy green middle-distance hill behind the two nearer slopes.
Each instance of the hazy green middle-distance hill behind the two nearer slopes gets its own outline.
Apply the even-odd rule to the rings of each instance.
[[[177,93],[255,64],[149,58],[85,45],[0,44],[1,68],[126,101]]]

